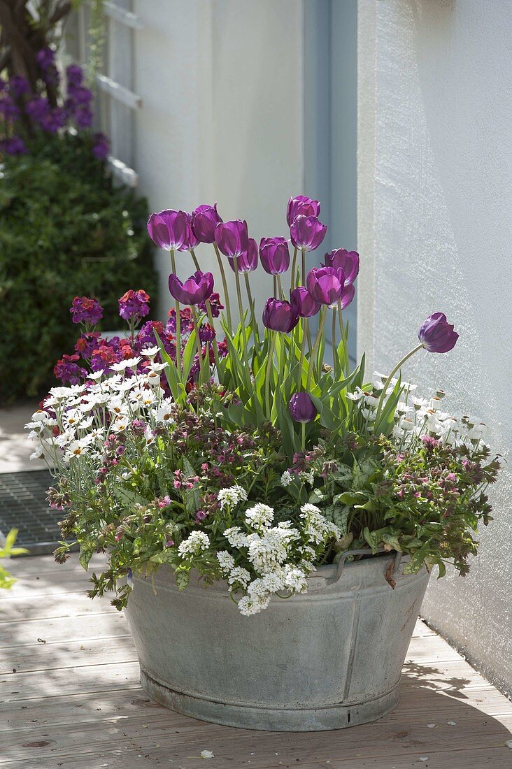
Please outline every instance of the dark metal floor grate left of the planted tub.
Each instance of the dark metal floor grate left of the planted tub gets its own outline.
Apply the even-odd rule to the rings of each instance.
[[[16,544],[32,555],[52,552],[61,538],[62,510],[52,510],[46,501],[51,485],[47,470],[0,474],[0,533],[17,528]]]

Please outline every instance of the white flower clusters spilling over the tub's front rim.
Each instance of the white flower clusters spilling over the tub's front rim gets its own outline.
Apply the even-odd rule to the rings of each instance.
[[[340,538],[340,530],[326,521],[313,504],[301,508],[303,526],[290,521],[273,526],[274,511],[266,504],[255,504],[245,514],[246,531],[233,526],[224,535],[239,554],[217,553],[229,590],[242,590],[238,608],[241,614],[257,614],[269,605],[273,594],[296,594],[307,591],[307,576],[315,570],[316,551],[311,544],[324,544]],[[303,542],[311,544],[303,544]],[[249,561],[251,571],[236,565]]]

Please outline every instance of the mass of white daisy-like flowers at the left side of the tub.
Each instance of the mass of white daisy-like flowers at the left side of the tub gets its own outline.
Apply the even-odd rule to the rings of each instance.
[[[172,401],[160,387],[163,364],[152,361],[143,374],[125,378],[126,368],[139,361],[112,365],[113,375],[99,371],[84,384],[52,388],[43,408],[25,424],[28,438],[38,442],[31,458],[44,457],[54,466],[81,454],[101,458],[109,434],[122,433],[135,419],[143,425],[146,443],[152,444],[157,425],[171,418]]]

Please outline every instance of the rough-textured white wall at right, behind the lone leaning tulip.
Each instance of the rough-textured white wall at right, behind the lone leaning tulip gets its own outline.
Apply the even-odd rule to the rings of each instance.
[[[512,691],[512,85],[509,0],[360,0],[359,341],[381,371],[445,311],[447,355],[404,374],[442,385],[509,458],[467,578],[430,584],[423,613]]]

